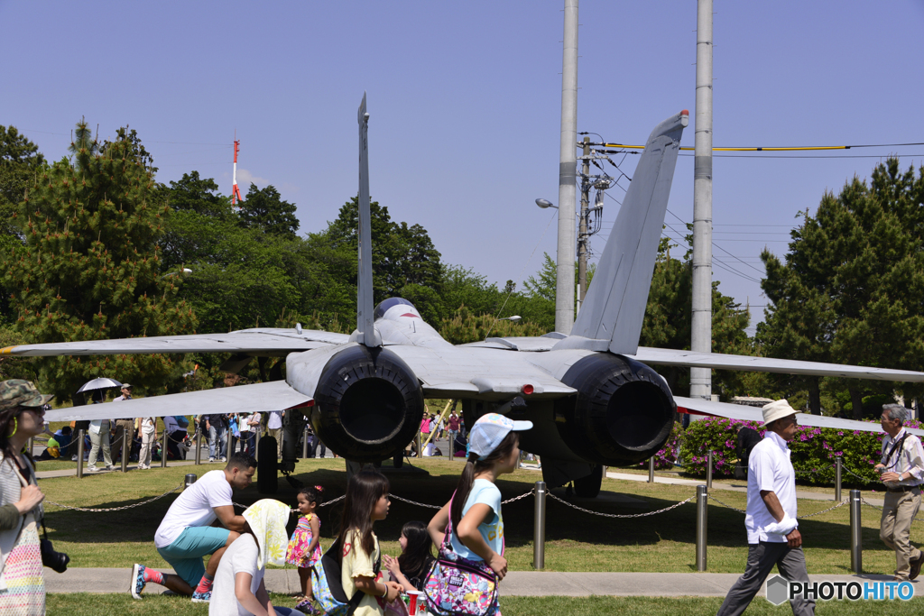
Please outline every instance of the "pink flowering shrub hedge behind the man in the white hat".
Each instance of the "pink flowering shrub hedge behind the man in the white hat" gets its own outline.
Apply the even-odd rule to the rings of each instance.
[[[707,455],[711,450],[712,477],[734,477],[738,457],[737,424],[756,429],[763,436],[763,424],[757,421],[706,417],[690,422],[680,447],[679,461],[684,465],[685,472],[694,477],[706,477]],[[905,425],[916,429],[922,426],[921,422],[915,420],[907,421]],[[796,430],[796,438],[789,443],[789,449],[793,452],[790,459],[796,470],[796,481],[810,485],[832,485],[834,457],[840,455],[844,464],[844,486],[869,487],[870,484],[878,483],[879,475],[873,466],[879,462],[884,436],[882,432],[800,426]],[[855,475],[848,473],[848,469]]]

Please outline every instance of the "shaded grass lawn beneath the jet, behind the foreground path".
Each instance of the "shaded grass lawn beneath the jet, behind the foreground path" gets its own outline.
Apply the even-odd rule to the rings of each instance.
[[[390,475],[392,492],[413,501],[444,504],[456,486],[461,463],[424,459],[426,473]],[[187,473],[203,473],[220,465],[188,465],[131,471],[127,474],[56,477],[41,480],[49,501],[83,507],[117,507],[145,501],[176,487]],[[340,496],[346,488],[342,460],[300,461],[296,476],[306,483],[320,484],[328,500]],[[505,499],[532,488],[541,478],[534,471],[520,470],[498,482]],[[621,492],[645,501],[643,508],[617,502],[582,501],[586,508],[603,513],[642,513],[662,509],[695,493],[692,486],[650,485],[637,481],[604,479],[603,489]],[[280,477],[279,492],[274,495],[286,503],[296,503],[296,489]],[[716,496],[743,509],[743,493],[717,491]],[[57,550],[67,551],[72,567],[130,567],[143,562],[154,567],[166,566],[153,545],[153,535],[170,503],[171,494],[159,501],[111,513],[83,513],[46,506],[49,537]],[[261,495],[256,483],[235,495],[235,501],[249,504]],[[799,501],[801,514],[821,511],[829,501]],[[340,503],[322,507],[322,545],[327,546],[339,525]],[[894,570],[894,553],[886,550],[879,539],[879,512],[863,508],[863,562],[869,573],[888,574]],[[408,520],[428,521],[433,510],[392,501],[387,520],[376,524],[385,553],[397,555],[401,526]],[[506,555],[515,571],[532,569],[533,499],[531,497],[504,506]],[[294,528],[296,518],[291,525]],[[848,574],[849,513],[843,506],[830,513],[805,520],[800,525],[810,574]],[[291,530],[291,529],[290,529]],[[565,505],[548,501],[545,567],[550,571],[624,571],[688,573],[695,567],[695,505],[690,502],[668,513],[635,519],[611,519],[581,513]],[[924,525],[912,526],[912,541],[924,542]],[[712,573],[741,573],[747,556],[744,515],[718,504],[709,508],[708,570]]]

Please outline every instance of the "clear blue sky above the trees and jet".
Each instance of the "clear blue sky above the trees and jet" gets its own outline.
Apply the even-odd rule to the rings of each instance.
[[[318,231],[357,192],[356,110],[368,91],[372,198],[427,228],[444,261],[521,283],[543,251],[554,257],[555,213],[534,199],[558,195],[562,6],[0,0],[0,124],[53,160],[81,115],[101,137],[128,124],[158,180],[198,170],[225,194],[237,131],[242,191],[250,179],[273,184],[298,204],[301,230]],[[715,146],[924,141],[920,0],[714,0],[714,11]],[[644,143],[668,115],[686,108],[692,119],[694,0],[584,0],[579,22],[578,130]],[[683,142],[693,145],[692,125]],[[797,212],[890,153],[907,155],[903,167],[924,163],[924,146],[716,158],[723,292],[760,319],[760,249],[783,255]],[[621,166],[632,175],[634,165]],[[692,219],[692,196],[682,157],[668,223]],[[607,199],[604,221],[617,211]],[[598,254],[610,224],[593,238]]]

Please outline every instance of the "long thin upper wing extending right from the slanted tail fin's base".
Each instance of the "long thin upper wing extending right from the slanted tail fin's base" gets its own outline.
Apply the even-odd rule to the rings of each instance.
[[[868,366],[843,366],[815,361],[795,359],[774,359],[773,357],[751,357],[723,355],[721,353],[697,353],[676,349],[659,349],[639,346],[633,357],[652,366],[682,366],[685,368],[713,368],[717,370],[745,370],[750,372],[779,372],[783,374],[808,374],[820,377],[843,377],[847,379],[900,380],[924,382],[924,372],[869,368]]]

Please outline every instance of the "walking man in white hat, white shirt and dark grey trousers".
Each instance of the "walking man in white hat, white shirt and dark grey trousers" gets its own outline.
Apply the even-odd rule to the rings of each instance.
[[[791,582],[808,582],[802,536],[796,522],[796,472],[787,442],[796,436],[796,409],[785,400],[763,407],[766,432],[748,460],[748,564],[745,574],[719,608],[719,616],[737,616],[748,608],[775,564]],[[796,616],[815,613],[815,601],[789,602]]]

